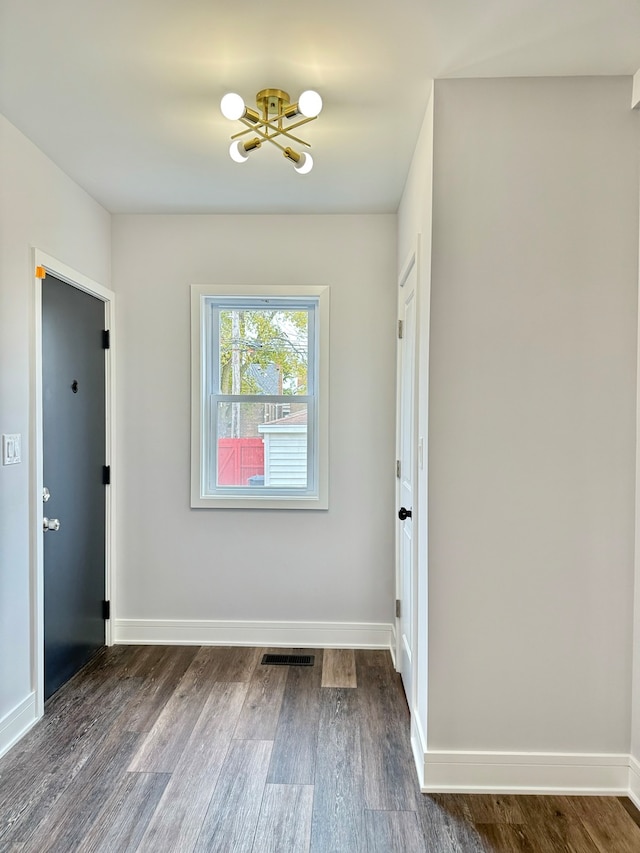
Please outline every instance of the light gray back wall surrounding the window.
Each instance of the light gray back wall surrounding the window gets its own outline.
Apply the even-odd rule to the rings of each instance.
[[[395,257],[393,215],[114,217],[117,625],[393,621]],[[189,285],[254,282],[331,286],[328,512],[189,508]]]

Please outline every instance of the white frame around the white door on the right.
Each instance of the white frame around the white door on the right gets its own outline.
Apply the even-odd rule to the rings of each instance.
[[[418,594],[418,537],[420,533],[419,527],[419,502],[418,502],[418,451],[419,448],[417,446],[417,436],[418,436],[418,365],[419,365],[419,352],[420,352],[420,311],[419,311],[419,282],[420,282],[420,266],[419,266],[419,247],[420,240],[419,235],[416,240],[415,248],[411,251],[411,254],[403,264],[401,268],[400,275],[398,276],[398,289],[397,289],[397,306],[398,306],[398,321],[401,319],[400,317],[400,304],[401,304],[401,293],[402,288],[406,284],[409,275],[415,267],[416,274],[416,289],[415,289],[415,318],[416,318],[416,326],[415,326],[415,338],[414,338],[414,372],[413,372],[413,424],[412,424],[412,432],[414,438],[414,452],[413,452],[413,477],[412,482],[414,485],[413,488],[413,518],[412,521],[412,572],[413,577],[411,579],[412,585],[412,636],[411,636],[411,696],[407,696],[407,704],[409,706],[409,712],[411,716],[414,716],[414,707],[415,707],[415,694],[416,694],[416,679],[417,679],[417,669],[418,669],[418,625],[417,625],[417,617],[418,617],[418,608],[417,608],[417,594]],[[400,460],[401,454],[401,435],[400,435],[400,425],[401,425],[401,405],[402,405],[402,356],[401,356],[401,344],[398,340],[397,342],[397,357],[396,357],[396,459]],[[400,506],[399,498],[400,498],[400,478],[396,479],[396,512],[398,507]],[[396,599],[402,599],[402,574],[401,574],[401,564],[400,564],[400,525],[398,523],[398,519],[396,518]],[[396,617],[395,621],[396,628],[396,669],[400,668],[402,662],[402,632],[400,630],[400,619]]]

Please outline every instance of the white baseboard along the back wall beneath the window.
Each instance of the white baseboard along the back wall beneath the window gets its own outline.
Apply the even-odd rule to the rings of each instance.
[[[116,619],[120,645],[392,649],[393,625],[351,622],[222,622]]]

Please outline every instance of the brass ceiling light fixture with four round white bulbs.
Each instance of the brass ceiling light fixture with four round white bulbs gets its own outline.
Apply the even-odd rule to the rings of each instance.
[[[308,174],[313,168],[313,159],[307,151],[298,152],[282,142],[291,140],[310,148],[308,142],[294,136],[291,131],[303,124],[314,121],[322,109],[322,98],[317,92],[308,89],[292,104],[287,92],[281,89],[263,89],[256,95],[257,110],[247,107],[240,95],[229,92],[220,101],[220,110],[225,118],[240,121],[246,130],[235,133],[231,139],[229,154],[236,163],[245,163],[249,152],[260,148],[263,142],[270,142],[279,148],[287,160],[291,160],[294,169],[301,175]],[[255,133],[256,136],[243,140],[243,136]]]

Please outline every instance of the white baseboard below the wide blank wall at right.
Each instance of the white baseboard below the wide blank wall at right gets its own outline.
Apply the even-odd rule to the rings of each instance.
[[[422,791],[625,796],[629,756],[427,751]]]

